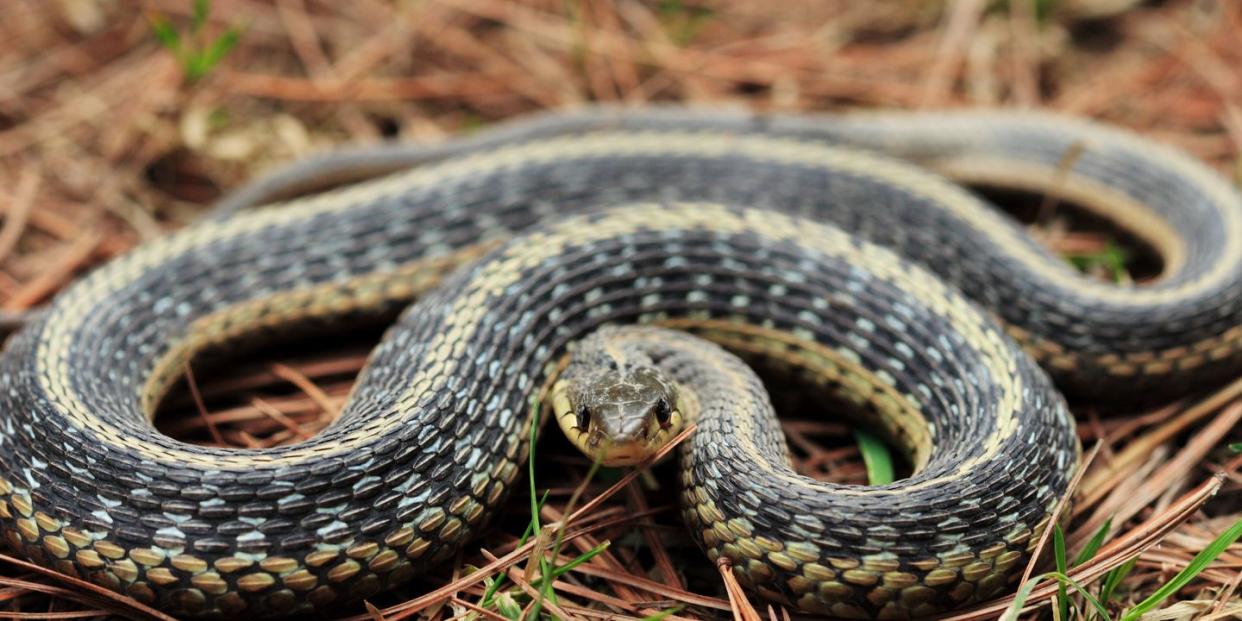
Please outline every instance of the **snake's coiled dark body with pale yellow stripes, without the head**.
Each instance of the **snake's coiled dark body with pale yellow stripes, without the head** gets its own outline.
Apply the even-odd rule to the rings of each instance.
[[[871,152],[1083,204],[1164,271],[1084,278],[944,176]],[[555,361],[595,338],[691,383],[667,404],[704,415],[684,514],[744,586],[810,612],[922,615],[1004,591],[1047,527],[1078,451],[1052,381],[1169,395],[1242,363],[1238,195],[1082,120],[591,109],[273,179],[88,274],[10,340],[0,529],[20,554],[181,615],[371,596],[484,527]],[[233,212],[324,179],[358,183]],[[310,440],[222,450],[150,426],[196,353],[414,298]],[[805,373],[917,471],[797,477],[779,427],[748,414],[764,396],[741,363],[655,328],[587,337],[616,323]]]

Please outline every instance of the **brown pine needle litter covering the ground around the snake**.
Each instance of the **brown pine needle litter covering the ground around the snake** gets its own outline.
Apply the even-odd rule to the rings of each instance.
[[[1242,2],[1232,0],[210,0],[195,26],[197,2],[5,2],[0,327],[281,163],[591,101],[1042,107],[1134,128],[1242,176]],[[178,53],[160,42],[170,31],[190,37]],[[1035,232],[1081,268],[1143,278],[1124,240],[1056,204],[1027,207]],[[156,425],[214,446],[302,441],[332,422],[378,337],[282,343],[226,374],[188,373]],[[1109,619],[1161,587],[1164,607],[1143,619],[1242,619],[1242,544],[1196,559],[1242,518],[1242,455],[1230,448],[1242,442],[1242,380],[1150,411],[1076,412],[1095,448],[1062,514],[1069,558],[1083,556],[1066,578]],[[867,482],[848,427],[805,404],[782,414],[799,472]],[[537,515],[519,488],[453,566],[327,619],[797,619],[748,600],[728,566],[688,543],[673,465],[597,471],[544,436]],[[1053,569],[1052,556],[1032,574]],[[166,619],[0,561],[0,619]],[[1179,580],[1187,568],[1194,576]],[[943,619],[1053,619],[1057,591],[1045,580],[1013,610],[1011,596]],[[1104,619],[1067,592],[1072,619]]]

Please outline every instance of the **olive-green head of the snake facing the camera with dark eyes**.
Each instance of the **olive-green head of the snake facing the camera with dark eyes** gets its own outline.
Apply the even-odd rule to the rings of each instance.
[[[584,342],[553,385],[551,407],[565,437],[604,466],[632,466],[682,427],[677,384],[650,360]]]

